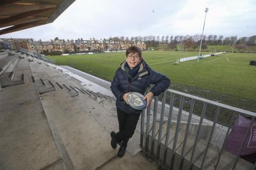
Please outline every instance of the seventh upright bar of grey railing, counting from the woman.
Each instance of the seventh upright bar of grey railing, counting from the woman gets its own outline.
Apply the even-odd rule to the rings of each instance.
[[[183,166],[183,162],[184,162],[184,152],[185,152],[185,148],[186,148],[186,144],[187,144],[187,140],[188,140],[189,127],[190,127],[190,124],[191,124],[191,118],[192,118],[192,114],[193,114],[193,111],[194,111],[194,106],[195,106],[195,99],[191,99],[189,115],[188,115],[188,124],[186,126],[186,132],[185,132],[185,136],[184,136],[184,143],[183,143],[182,152],[181,152],[181,156],[180,156],[181,157],[180,167],[179,167],[180,170],[182,170],[182,166]]]

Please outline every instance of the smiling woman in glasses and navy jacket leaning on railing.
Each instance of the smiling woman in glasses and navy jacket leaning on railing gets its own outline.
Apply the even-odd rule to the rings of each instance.
[[[144,94],[148,85],[154,84],[144,97],[148,107],[154,96],[158,96],[170,86],[169,78],[148,67],[141,58],[140,48],[131,46],[126,50],[125,55],[125,61],[116,70],[111,83],[111,90],[116,97],[119,124],[119,132],[111,132],[111,146],[115,149],[116,143],[120,145],[118,157],[124,156],[127,143],[134,134],[141,113],[141,110],[131,108],[127,103],[129,92]]]

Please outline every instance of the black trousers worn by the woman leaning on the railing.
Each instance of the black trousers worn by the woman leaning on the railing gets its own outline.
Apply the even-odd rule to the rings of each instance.
[[[119,124],[119,132],[116,133],[116,139],[118,141],[124,141],[124,145],[127,145],[129,138],[132,138],[132,135],[134,134],[141,114],[126,113],[119,108],[116,109]]]

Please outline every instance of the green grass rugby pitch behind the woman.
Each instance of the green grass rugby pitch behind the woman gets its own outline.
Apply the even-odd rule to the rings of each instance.
[[[218,101],[244,110],[256,111],[256,69],[249,66],[256,60],[252,53],[225,53],[200,62],[190,60],[173,65],[182,57],[198,52],[143,52],[143,59],[154,70],[172,80],[172,89]],[[58,65],[71,66],[111,81],[125,53],[48,56]]]

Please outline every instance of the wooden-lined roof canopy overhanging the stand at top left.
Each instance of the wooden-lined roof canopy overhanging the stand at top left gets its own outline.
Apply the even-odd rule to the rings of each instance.
[[[49,24],[74,1],[76,0],[1,0],[0,35]]]

